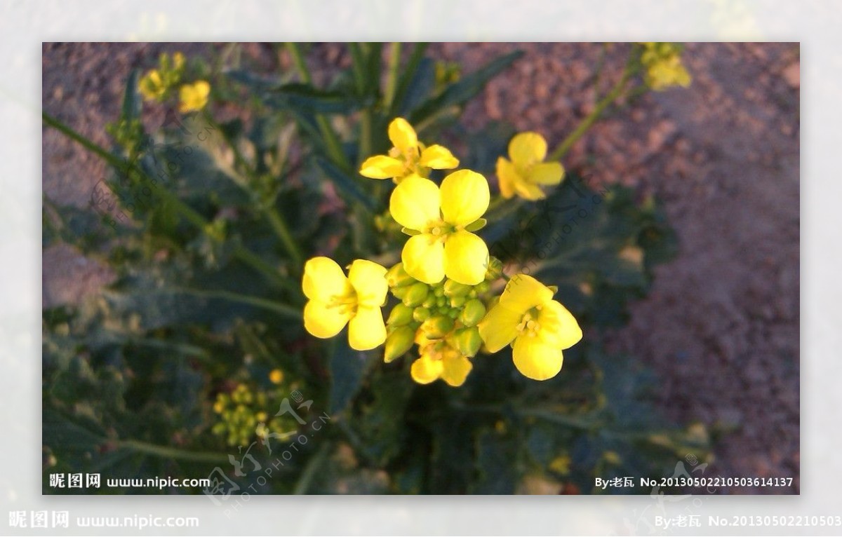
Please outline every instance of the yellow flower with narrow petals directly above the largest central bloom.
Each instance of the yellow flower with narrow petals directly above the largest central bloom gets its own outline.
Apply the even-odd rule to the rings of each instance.
[[[389,124],[392,149],[388,155],[375,155],[365,159],[360,175],[372,179],[393,178],[399,181],[408,175],[426,177],[430,168],[449,170],[459,166],[459,161],[444,146],[429,146],[418,141],[418,135],[407,120],[396,118]]]

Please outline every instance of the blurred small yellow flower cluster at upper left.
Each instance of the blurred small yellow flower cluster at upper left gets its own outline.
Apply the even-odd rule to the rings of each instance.
[[[182,83],[184,79],[184,55],[181,52],[166,53],[158,61],[158,68],[147,72],[138,82],[138,90],[147,101],[163,103],[179,88],[179,111],[183,114],[205,108],[210,95],[210,84],[204,80]]]

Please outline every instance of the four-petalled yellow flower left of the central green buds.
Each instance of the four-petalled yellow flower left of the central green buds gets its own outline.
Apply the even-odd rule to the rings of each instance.
[[[381,306],[386,301],[386,268],[357,259],[348,277],[330,258],[312,258],[304,265],[301,287],[310,299],[304,306],[304,327],[317,338],[333,338],[346,324],[348,342],[356,350],[386,341]]]

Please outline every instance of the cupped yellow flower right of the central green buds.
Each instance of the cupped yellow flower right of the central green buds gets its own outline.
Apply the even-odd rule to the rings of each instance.
[[[582,339],[576,319],[552,295],[535,278],[518,274],[479,323],[488,351],[496,353],[512,343],[514,366],[534,380],[556,376],[562,370],[562,350]]]

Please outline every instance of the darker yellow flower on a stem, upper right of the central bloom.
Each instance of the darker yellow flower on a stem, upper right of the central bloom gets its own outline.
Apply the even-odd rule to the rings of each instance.
[[[509,142],[509,157],[497,159],[497,178],[500,182],[500,194],[511,198],[514,194],[521,198],[546,198],[539,185],[558,184],[564,177],[564,167],[560,162],[543,162],[546,157],[546,140],[536,132],[521,132]]]

